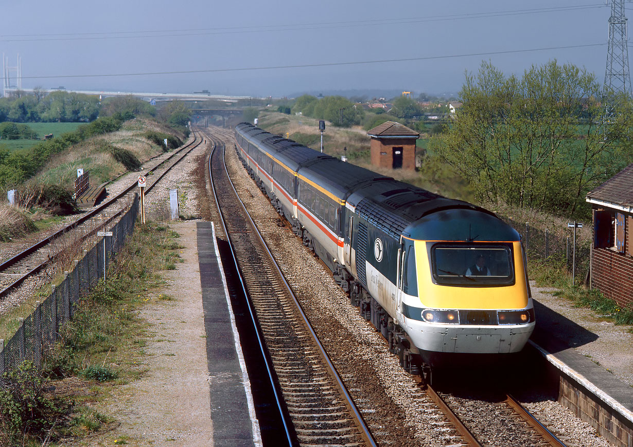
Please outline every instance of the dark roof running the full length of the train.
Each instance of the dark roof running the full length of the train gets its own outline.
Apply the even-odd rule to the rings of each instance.
[[[520,240],[511,226],[477,205],[340,161],[249,123],[240,123],[235,130],[306,180],[347,200],[360,216],[396,239],[403,235],[416,240]]]

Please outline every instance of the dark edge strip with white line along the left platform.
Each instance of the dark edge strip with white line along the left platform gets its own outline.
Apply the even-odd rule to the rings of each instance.
[[[198,222],[196,231],[214,445],[261,445],[260,428],[213,224]]]

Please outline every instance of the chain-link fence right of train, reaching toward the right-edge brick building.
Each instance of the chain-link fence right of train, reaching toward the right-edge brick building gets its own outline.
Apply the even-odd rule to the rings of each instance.
[[[499,216],[521,235],[523,248],[528,259],[564,264],[571,273],[573,267],[573,236],[560,236],[541,230],[529,223],[520,223],[509,217]],[[577,278],[585,278],[589,271],[591,240],[576,239],[575,271]]]

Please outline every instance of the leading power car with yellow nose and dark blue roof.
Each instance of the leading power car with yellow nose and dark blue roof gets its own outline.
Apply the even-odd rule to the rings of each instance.
[[[487,364],[522,350],[535,319],[517,231],[467,202],[385,186],[348,199],[349,270],[356,304],[403,366]]]

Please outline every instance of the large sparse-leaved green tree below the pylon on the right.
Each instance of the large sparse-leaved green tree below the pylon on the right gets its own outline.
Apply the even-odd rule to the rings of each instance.
[[[522,78],[491,63],[468,74],[463,106],[430,148],[465,176],[480,200],[574,216],[584,195],[633,161],[630,98],[591,73],[551,61]],[[603,126],[605,104],[613,118]]]

